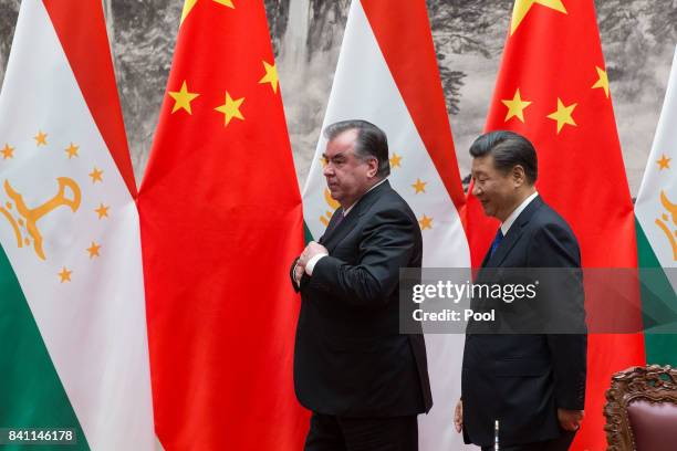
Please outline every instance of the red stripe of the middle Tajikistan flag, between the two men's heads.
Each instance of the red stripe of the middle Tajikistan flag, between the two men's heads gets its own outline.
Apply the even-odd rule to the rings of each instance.
[[[426,2],[362,0],[362,7],[418,135],[456,210],[464,218],[466,197],[460,183]],[[403,49],[403,43],[412,49]]]

